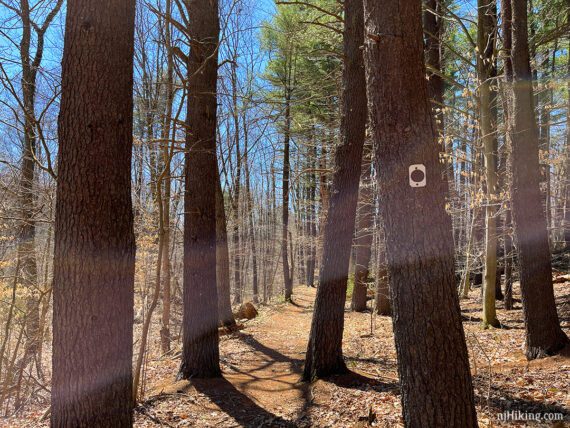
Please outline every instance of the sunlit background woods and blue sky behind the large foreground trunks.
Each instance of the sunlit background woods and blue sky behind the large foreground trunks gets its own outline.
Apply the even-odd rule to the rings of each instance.
[[[513,305],[505,5],[426,0],[424,49],[449,193],[460,294],[487,280],[483,323]],[[507,2],[508,3],[508,2]],[[63,0],[0,0],[0,414],[49,401]],[[217,92],[216,257],[220,322],[244,302],[318,285],[334,156],[341,141],[344,14],[332,0],[222,0]],[[542,209],[555,268],[570,245],[570,4],[532,0],[529,48]],[[187,5],[137,2],[132,195],[135,390],[149,358],[182,339]],[[512,73],[512,71],[511,71]],[[512,76],[511,76],[512,77]],[[364,90],[364,88],[363,88]],[[351,118],[348,118],[350,121]],[[361,165],[348,292],[390,313],[372,135]],[[103,172],[102,172],[103,173]],[[405,239],[405,237],[402,237]],[[567,254],[567,253],[566,253]],[[489,266],[491,268],[489,268]],[[135,398],[136,398],[135,397]]]

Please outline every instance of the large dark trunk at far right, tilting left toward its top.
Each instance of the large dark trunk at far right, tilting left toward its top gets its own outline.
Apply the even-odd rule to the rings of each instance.
[[[528,359],[552,355],[568,343],[560,328],[552,286],[546,218],[540,194],[538,129],[528,48],[527,1],[512,0],[513,97],[510,137],[512,216]]]

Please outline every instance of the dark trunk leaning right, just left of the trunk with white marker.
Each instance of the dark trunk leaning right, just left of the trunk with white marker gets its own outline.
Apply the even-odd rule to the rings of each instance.
[[[346,371],[342,356],[344,304],[367,116],[360,49],[364,35],[362,0],[345,0],[344,16],[342,140],[335,153],[319,287],[303,372],[305,380]]]

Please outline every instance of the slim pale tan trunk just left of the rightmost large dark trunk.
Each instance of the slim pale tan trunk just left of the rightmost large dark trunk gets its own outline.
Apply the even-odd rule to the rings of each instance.
[[[497,280],[497,91],[494,82],[497,4],[495,0],[477,3],[477,74],[479,75],[479,123],[485,161],[485,277],[483,281],[483,325],[499,327],[495,307]]]

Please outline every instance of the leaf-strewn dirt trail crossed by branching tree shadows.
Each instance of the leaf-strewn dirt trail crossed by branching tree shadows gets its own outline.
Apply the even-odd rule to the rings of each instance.
[[[223,378],[158,386],[148,403],[156,417],[141,415],[140,426],[145,419],[164,422],[164,404],[175,406],[166,410],[174,426],[298,426],[293,421],[311,401],[308,385],[299,380],[314,298],[314,289],[299,287],[292,304],[262,310],[244,330],[223,336]],[[199,419],[192,421],[194,416]]]

